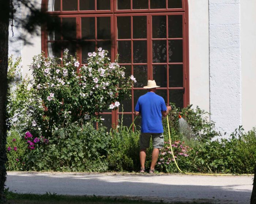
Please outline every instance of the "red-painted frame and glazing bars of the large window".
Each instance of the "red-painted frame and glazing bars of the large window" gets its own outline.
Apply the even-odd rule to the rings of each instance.
[[[153,65],[154,64],[165,64],[167,67],[167,78],[169,77],[169,65],[170,64],[182,64],[183,65],[183,87],[175,87],[175,88],[170,88],[169,87],[169,80],[167,80],[167,88],[158,88],[159,90],[167,90],[167,103],[169,103],[169,90],[175,89],[175,90],[184,90],[184,95],[183,95],[183,104],[184,106],[189,105],[189,36],[188,36],[188,1],[187,0],[182,0],[182,8],[167,8],[167,2],[166,0],[166,8],[164,9],[130,9],[130,10],[117,10],[117,0],[110,0],[110,10],[96,10],[96,3],[97,0],[95,0],[95,10],[94,11],[80,11],[79,10],[79,0],[78,1],[78,11],[62,11],[62,0],[61,1],[61,11],[52,11],[48,12],[48,0],[42,0],[42,11],[48,12],[51,15],[57,15],[59,17],[75,17],[76,18],[76,38],[81,39],[82,34],[81,34],[81,18],[82,17],[104,17],[104,16],[110,16],[110,21],[111,21],[111,40],[112,40],[112,46],[111,46],[111,61],[114,62],[114,56],[117,55],[117,42],[121,40],[133,40],[132,38],[132,20],[131,20],[131,39],[117,39],[117,16],[147,16],[147,22],[150,26],[147,26],[147,39],[136,39],[136,40],[147,40],[147,63],[136,63],[136,65],[140,64],[147,64],[147,78],[153,79]],[[131,0],[131,8],[132,8],[132,0]],[[150,8],[150,0],[148,1],[148,8]],[[182,48],[183,48],[183,62],[181,63],[153,63],[152,60],[152,27],[151,27],[151,21],[152,21],[152,16],[155,15],[166,15],[166,22],[168,21],[168,15],[182,15],[182,38],[171,38],[171,40],[183,40],[182,42]],[[88,40],[88,41],[97,41],[97,21],[95,19],[95,40]],[[168,23],[166,23],[166,33],[168,32]],[[47,55],[47,33],[46,29],[44,26],[41,28],[41,38],[42,38],[42,51],[44,51]],[[154,39],[158,40],[158,39]],[[166,38],[161,38],[159,40],[166,40],[167,45],[168,45],[168,36]],[[99,40],[98,40],[99,41]],[[133,43],[131,43],[132,46]],[[97,45],[97,44],[96,44]],[[95,45],[95,47],[96,47]],[[133,47],[131,47],[131,50],[133,50]],[[168,50],[167,49],[167,58],[169,59],[168,55]],[[78,58],[80,61],[80,64],[82,64],[82,48],[79,47],[77,49],[77,54]],[[131,56],[133,57],[133,56]],[[133,60],[131,60],[131,63],[124,63],[122,65],[131,65],[133,66]],[[79,68],[78,68],[79,69]],[[132,74],[133,74],[133,68]],[[136,76],[135,76],[136,77]],[[132,112],[119,112],[119,110],[112,110],[109,113],[102,113],[103,115],[108,114],[112,115],[112,124],[117,125],[118,121],[118,115],[120,114],[131,114],[132,115],[132,121],[134,120],[134,90],[143,90],[143,88],[136,88],[132,87],[131,90],[131,95],[132,95]]]

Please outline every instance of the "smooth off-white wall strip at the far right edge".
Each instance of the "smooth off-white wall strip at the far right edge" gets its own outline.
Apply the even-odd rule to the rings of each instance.
[[[241,1],[242,125],[256,126],[256,1]]]

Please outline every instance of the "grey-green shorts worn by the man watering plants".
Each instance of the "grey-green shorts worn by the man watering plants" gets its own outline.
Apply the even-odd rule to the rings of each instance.
[[[149,148],[150,138],[152,136],[153,148],[162,148],[164,144],[163,133],[140,133],[140,148]]]

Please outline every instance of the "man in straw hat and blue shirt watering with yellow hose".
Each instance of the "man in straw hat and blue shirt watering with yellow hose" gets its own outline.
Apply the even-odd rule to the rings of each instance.
[[[150,138],[152,136],[153,152],[149,173],[154,173],[155,164],[158,160],[159,149],[163,147],[163,124],[162,116],[166,117],[172,108],[165,105],[164,99],[155,94],[157,86],[155,80],[149,80],[147,93],[139,97],[135,107],[135,115],[142,116],[141,134],[140,134],[140,172],[145,172],[146,149],[149,148]]]

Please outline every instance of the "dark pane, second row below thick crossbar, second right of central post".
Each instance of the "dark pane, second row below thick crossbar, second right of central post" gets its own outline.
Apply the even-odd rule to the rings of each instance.
[[[147,63],[147,41],[133,41],[133,63]]]

